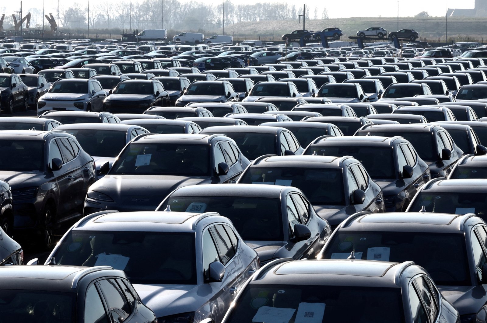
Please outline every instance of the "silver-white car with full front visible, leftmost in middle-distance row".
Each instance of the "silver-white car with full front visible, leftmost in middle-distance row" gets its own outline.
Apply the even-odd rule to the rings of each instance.
[[[48,110],[101,111],[107,93],[93,79],[60,79],[39,98],[37,115]]]

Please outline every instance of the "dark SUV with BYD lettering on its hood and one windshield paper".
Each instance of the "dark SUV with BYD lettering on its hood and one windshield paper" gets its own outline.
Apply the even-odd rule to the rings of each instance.
[[[108,174],[90,187],[84,214],[152,211],[178,187],[227,183],[248,164],[237,144],[224,135],[140,135],[125,146]]]

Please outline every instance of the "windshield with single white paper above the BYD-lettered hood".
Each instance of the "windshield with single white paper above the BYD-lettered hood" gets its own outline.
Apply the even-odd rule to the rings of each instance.
[[[121,152],[110,174],[209,176],[209,145],[134,144]]]

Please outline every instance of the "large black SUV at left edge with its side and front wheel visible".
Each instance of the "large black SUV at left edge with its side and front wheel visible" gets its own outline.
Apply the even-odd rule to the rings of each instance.
[[[12,187],[14,230],[49,247],[53,230],[80,215],[83,196],[95,181],[95,166],[64,131],[12,130],[0,134],[0,178]]]

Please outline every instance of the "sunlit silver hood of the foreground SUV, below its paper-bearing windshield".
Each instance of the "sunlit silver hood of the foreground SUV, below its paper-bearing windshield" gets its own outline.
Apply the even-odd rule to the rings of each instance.
[[[210,284],[133,284],[133,287],[139,294],[142,302],[152,309],[157,317],[194,312],[207,302],[209,295],[216,293],[216,291],[212,290]]]

